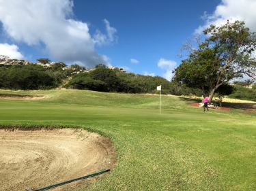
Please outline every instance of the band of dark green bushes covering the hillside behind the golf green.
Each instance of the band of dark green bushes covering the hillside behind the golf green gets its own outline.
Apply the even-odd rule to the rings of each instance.
[[[46,60],[46,59],[45,59]],[[47,61],[47,60],[46,60]],[[47,62],[45,62],[47,63]],[[156,86],[162,86],[162,94],[195,95],[201,97],[201,88],[190,87],[175,81],[169,82],[163,77],[126,73],[119,69],[109,69],[97,65],[95,69],[86,71],[85,67],[65,63],[53,63],[44,67],[31,63],[29,65],[0,65],[0,88],[10,90],[49,90],[53,88],[70,88],[93,90],[100,92],[124,93],[159,93]],[[63,69],[63,68],[67,69]],[[252,82],[235,82],[221,85],[215,96],[223,100],[229,95],[235,99],[256,101],[256,86]]]

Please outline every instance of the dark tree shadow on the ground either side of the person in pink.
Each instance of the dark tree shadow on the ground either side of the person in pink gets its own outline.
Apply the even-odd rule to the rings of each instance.
[[[200,103],[201,99],[193,99],[193,98],[186,98],[186,97],[180,97],[180,99],[184,101],[188,101],[190,103]],[[229,107],[232,109],[243,109],[243,110],[248,110],[248,109],[256,109],[256,103],[229,103],[229,102],[223,102],[222,107]]]

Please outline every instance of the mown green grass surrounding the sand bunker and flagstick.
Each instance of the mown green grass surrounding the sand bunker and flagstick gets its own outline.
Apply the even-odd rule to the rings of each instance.
[[[210,113],[189,99],[86,90],[0,91],[44,95],[0,100],[1,126],[79,127],[110,137],[117,167],[88,190],[256,190],[256,118]]]

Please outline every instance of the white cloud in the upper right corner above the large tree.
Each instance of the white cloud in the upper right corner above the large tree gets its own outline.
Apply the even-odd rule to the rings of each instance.
[[[204,14],[203,19],[205,19],[205,25],[196,29],[195,33],[201,33],[210,24],[219,26],[227,22],[227,20],[231,22],[242,20],[251,31],[256,31],[255,7],[255,0],[222,0],[213,14]]]

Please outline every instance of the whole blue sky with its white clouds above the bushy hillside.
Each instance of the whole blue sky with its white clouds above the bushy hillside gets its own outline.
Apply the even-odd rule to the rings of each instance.
[[[171,80],[188,39],[227,19],[256,31],[255,9],[255,0],[0,0],[0,55]]]

